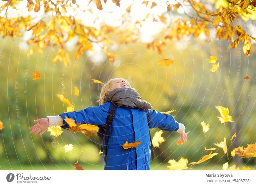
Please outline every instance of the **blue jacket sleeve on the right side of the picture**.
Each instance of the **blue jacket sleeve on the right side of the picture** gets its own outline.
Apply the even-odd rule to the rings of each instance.
[[[150,126],[149,128],[160,128],[165,131],[177,131],[179,129],[179,122],[177,122],[171,114],[162,114],[156,110],[149,110]]]

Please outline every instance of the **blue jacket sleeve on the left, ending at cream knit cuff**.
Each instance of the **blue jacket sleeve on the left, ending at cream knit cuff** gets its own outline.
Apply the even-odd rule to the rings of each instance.
[[[64,112],[60,116],[63,118],[63,125],[61,128],[68,128],[68,123],[64,120],[72,118],[75,123],[91,124],[91,125],[105,125],[108,118],[110,102],[107,102],[100,106],[87,107],[81,111]]]

